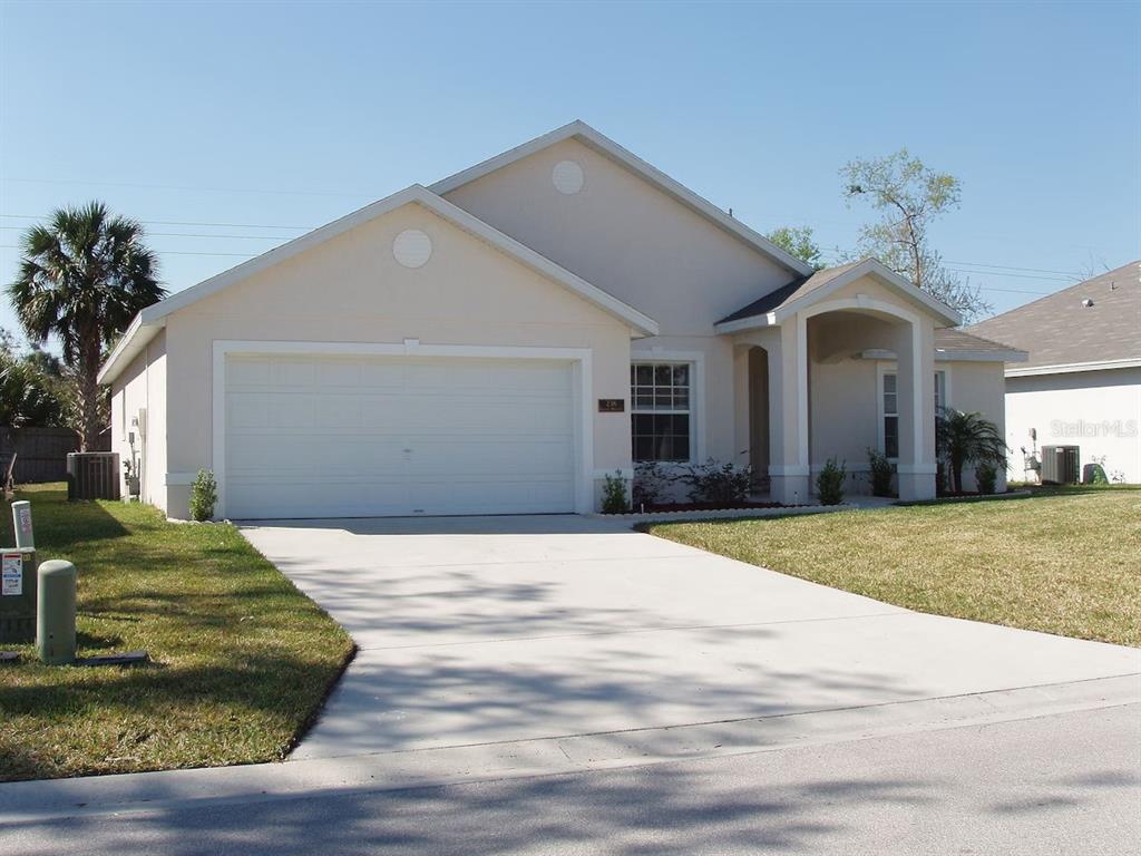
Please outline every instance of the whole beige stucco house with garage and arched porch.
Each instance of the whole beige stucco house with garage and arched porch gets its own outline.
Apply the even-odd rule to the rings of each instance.
[[[868,447],[914,499],[937,402],[1002,421],[1018,355],[958,323],[876,261],[814,272],[573,122],[145,309],[100,380],[173,517],[199,468],[235,518],[588,512],[607,474],[709,458],[798,502]]]

